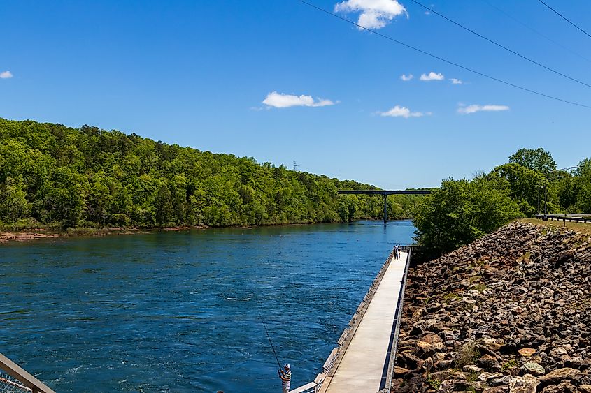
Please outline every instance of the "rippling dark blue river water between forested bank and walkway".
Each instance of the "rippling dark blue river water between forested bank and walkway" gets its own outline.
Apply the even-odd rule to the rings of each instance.
[[[0,245],[0,353],[57,392],[280,392],[320,371],[410,221]]]

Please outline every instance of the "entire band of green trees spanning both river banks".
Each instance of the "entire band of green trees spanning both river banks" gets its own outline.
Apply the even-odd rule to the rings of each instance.
[[[591,159],[557,170],[520,149],[489,173],[446,179],[431,195],[390,195],[388,218],[413,218],[417,242],[445,253],[538,211],[591,212]],[[166,228],[381,219],[378,189],[97,127],[0,118],[0,229]]]

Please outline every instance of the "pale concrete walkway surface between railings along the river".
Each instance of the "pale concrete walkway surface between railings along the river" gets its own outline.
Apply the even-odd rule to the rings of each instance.
[[[325,381],[328,393],[380,390],[405,264],[406,253],[400,253],[400,259],[390,262],[339,368],[334,377]]]

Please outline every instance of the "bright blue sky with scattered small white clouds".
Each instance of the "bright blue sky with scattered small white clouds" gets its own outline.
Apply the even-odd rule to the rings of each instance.
[[[411,1],[399,1],[400,15],[392,0],[309,1],[480,72],[591,105],[591,88]],[[590,2],[547,2],[591,31]],[[591,84],[591,38],[539,1],[425,3]],[[301,170],[383,188],[471,177],[521,147],[548,149],[559,167],[591,156],[590,109],[473,75],[296,0],[2,1],[0,34],[7,119],[90,124],[276,165],[297,161]],[[444,79],[420,80],[430,73]]]

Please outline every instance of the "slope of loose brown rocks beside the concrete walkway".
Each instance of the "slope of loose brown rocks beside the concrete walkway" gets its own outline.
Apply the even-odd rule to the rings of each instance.
[[[591,393],[591,238],[511,223],[408,272],[394,392]]]

